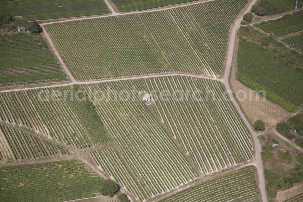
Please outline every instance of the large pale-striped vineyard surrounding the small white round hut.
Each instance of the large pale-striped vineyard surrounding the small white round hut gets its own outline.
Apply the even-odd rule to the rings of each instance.
[[[131,98],[124,102],[115,100],[114,94],[107,99],[102,99],[101,95],[96,96],[92,102],[102,122],[118,143],[122,157],[132,173],[129,176],[115,176],[115,173],[121,172],[117,171],[116,166],[120,165],[121,160],[112,150],[91,153],[101,170],[105,170],[136,197],[142,199],[145,195],[152,198],[196,178],[195,171],[176,148],[172,139],[177,139],[182,150],[198,166],[202,175],[218,172],[252,159],[250,136],[231,103],[222,100],[224,88],[220,82],[188,77],[165,77],[94,84],[83,88],[88,92],[96,90],[106,92],[106,89],[130,92],[133,87],[138,91],[142,89],[148,92],[153,90],[161,92],[162,88],[159,86],[168,92],[172,89],[188,88],[191,91],[195,90],[195,87],[199,90],[213,88],[219,97],[217,102],[208,101],[209,103],[206,98],[197,103],[192,97],[180,103],[173,100],[164,103],[155,101],[150,111],[142,100]],[[175,116],[170,113],[172,110],[176,113]],[[219,114],[221,116],[218,116]],[[163,130],[157,121],[158,118],[162,119],[161,122],[165,123],[165,128],[169,132]],[[109,156],[115,160],[105,162]],[[126,184],[126,178],[131,179],[132,184]],[[134,179],[138,180],[142,190],[135,187]]]

